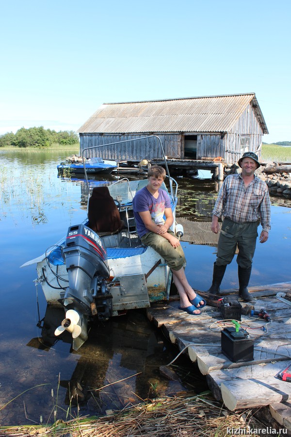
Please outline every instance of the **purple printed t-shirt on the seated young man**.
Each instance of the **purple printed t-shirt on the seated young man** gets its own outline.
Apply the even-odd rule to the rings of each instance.
[[[132,200],[133,214],[136,222],[136,230],[141,238],[146,235],[149,229],[146,228],[139,212],[149,211],[155,223],[164,223],[164,210],[171,208],[171,200],[165,190],[159,189],[159,196],[155,199],[146,186],[139,190]]]

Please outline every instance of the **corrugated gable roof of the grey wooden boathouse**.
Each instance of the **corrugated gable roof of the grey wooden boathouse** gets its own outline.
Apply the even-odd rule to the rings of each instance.
[[[250,102],[256,108],[263,133],[268,134],[255,93],[104,103],[78,132],[228,132]]]

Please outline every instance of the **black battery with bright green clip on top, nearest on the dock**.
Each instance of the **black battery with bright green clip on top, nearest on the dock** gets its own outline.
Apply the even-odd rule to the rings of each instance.
[[[254,340],[243,328],[224,328],[221,331],[221,350],[233,363],[254,359]]]

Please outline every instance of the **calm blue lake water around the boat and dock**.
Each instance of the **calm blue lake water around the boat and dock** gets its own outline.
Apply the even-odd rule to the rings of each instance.
[[[160,377],[159,366],[168,364],[178,351],[143,311],[93,326],[78,353],[60,339],[44,341],[41,320],[45,314],[46,319],[53,314],[46,313],[42,290],[33,282],[35,265],[20,266],[41,255],[69,226],[85,218],[84,182],[58,178],[56,166],[69,154],[0,151],[0,426],[104,414],[157,394],[206,388],[205,380],[193,372],[193,365],[189,370],[184,358],[176,361],[179,382]],[[178,217],[209,221],[217,195],[215,184],[199,178],[177,180]],[[208,289],[215,248],[182,246],[189,282],[194,288]],[[290,281],[290,259],[291,202],[272,198],[272,230],[267,243],[258,243],[250,285]],[[233,260],[222,287],[237,286]],[[75,392],[81,383],[79,408],[74,398],[70,400],[74,393],[68,390],[69,382]]]

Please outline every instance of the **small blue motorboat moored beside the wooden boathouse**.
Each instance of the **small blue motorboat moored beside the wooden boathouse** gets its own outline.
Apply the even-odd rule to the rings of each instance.
[[[89,158],[83,160],[80,157],[72,155],[66,158],[65,162],[61,162],[57,166],[59,174],[84,174],[84,167],[88,174],[111,174],[118,167],[116,161],[104,160],[102,158]]]

